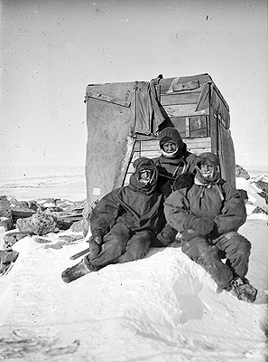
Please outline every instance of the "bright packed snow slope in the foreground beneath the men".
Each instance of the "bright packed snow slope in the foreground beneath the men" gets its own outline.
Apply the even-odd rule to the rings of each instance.
[[[240,233],[253,245],[254,304],[217,291],[180,247],[152,249],[143,260],[65,284],[61,271],[78,262],[69,256],[87,244],[60,248],[56,233],[50,243],[25,237],[14,244],[17,261],[0,277],[0,360],[264,361],[267,220],[249,219]]]

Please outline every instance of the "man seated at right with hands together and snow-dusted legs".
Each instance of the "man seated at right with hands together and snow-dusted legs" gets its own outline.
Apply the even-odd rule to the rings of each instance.
[[[175,191],[165,201],[166,220],[182,233],[182,252],[208,271],[220,288],[253,302],[257,291],[245,279],[251,243],[237,233],[245,223],[245,203],[219,177],[217,155],[200,154],[196,172],[189,190]]]

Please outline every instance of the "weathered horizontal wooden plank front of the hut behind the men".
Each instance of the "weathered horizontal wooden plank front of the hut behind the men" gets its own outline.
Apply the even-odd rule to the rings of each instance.
[[[193,77],[183,77],[174,83],[174,79],[162,79],[158,95],[166,121],[163,128],[173,126],[179,130],[180,136],[188,146],[189,152],[199,154],[211,151],[209,108],[196,111],[203,84],[210,80],[208,74],[199,75],[197,86],[183,90],[182,82],[192,82]],[[195,83],[195,82],[193,82]],[[193,84],[194,85],[194,84]],[[141,138],[140,138],[141,139]],[[156,158],[161,156],[158,139],[137,140],[134,154],[125,176],[125,185],[134,171],[133,162],[138,157]]]

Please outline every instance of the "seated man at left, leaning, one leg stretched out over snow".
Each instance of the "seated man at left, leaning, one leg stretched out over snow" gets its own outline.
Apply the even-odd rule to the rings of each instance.
[[[93,209],[89,224],[89,253],[79,264],[61,274],[74,281],[108,264],[143,258],[165,225],[163,195],[156,190],[158,170],[152,159],[134,161],[128,186],[105,195]]]

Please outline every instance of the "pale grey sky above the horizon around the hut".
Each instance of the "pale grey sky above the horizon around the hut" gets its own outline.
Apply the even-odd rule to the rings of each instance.
[[[236,163],[268,165],[265,0],[1,6],[0,166],[83,166],[87,84],[160,73],[208,73],[230,107]]]

